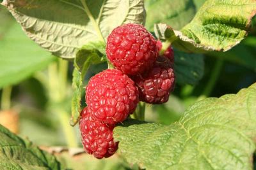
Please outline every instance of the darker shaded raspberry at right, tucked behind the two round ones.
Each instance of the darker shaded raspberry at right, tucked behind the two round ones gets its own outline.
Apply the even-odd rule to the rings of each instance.
[[[140,101],[162,104],[168,101],[175,85],[175,74],[170,60],[159,57],[147,74],[133,77],[140,90]]]

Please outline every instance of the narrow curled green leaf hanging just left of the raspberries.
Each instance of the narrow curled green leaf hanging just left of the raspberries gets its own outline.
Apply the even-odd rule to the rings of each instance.
[[[84,45],[77,51],[74,62],[72,88],[74,90],[72,97],[72,118],[71,125],[76,125],[81,112],[81,94],[83,88],[83,79],[91,64],[99,64],[106,61],[105,43],[101,41],[91,42]]]

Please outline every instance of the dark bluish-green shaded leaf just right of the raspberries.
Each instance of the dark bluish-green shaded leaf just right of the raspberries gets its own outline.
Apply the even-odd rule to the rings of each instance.
[[[204,55],[185,53],[174,48],[174,71],[180,85],[195,85],[204,76]]]

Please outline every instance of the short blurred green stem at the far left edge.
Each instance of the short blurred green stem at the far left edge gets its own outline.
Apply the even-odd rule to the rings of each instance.
[[[11,94],[12,94],[12,86],[7,86],[7,87],[3,88],[2,97],[1,97],[1,109],[2,110],[10,110]]]

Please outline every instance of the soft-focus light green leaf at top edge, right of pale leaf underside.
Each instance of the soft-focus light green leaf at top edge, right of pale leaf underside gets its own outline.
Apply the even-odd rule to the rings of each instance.
[[[152,31],[154,24],[164,22],[173,29],[182,29],[195,16],[195,4],[191,0],[147,0],[146,27]]]

